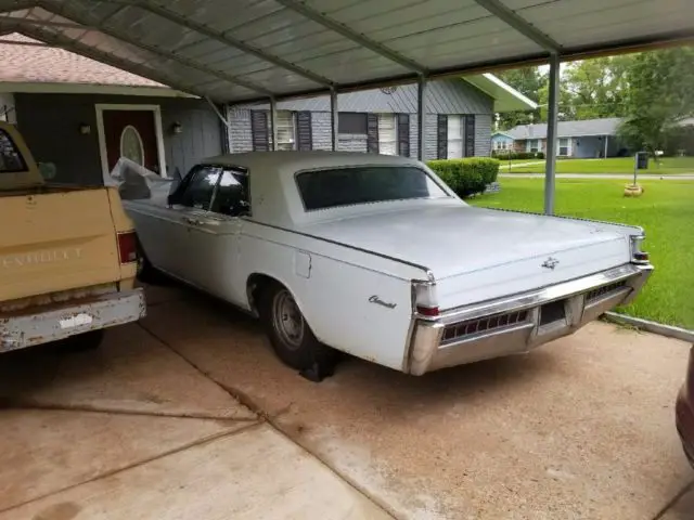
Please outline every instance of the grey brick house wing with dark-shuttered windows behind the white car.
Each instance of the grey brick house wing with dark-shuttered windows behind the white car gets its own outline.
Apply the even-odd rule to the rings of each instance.
[[[339,94],[338,150],[416,157],[417,87],[406,84]],[[496,76],[432,81],[425,103],[426,159],[488,156],[494,113],[536,104]],[[268,105],[229,107],[232,152],[270,150]],[[279,150],[331,150],[330,98],[278,103]]]

